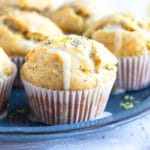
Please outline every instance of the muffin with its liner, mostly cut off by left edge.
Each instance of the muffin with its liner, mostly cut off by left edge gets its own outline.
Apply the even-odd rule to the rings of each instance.
[[[8,98],[16,75],[16,66],[0,48],[0,115],[6,111]],[[6,113],[5,113],[6,114]],[[0,116],[0,118],[1,118]]]

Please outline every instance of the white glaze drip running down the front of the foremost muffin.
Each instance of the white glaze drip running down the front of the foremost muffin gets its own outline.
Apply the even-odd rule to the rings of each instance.
[[[58,49],[49,49],[47,52],[59,54],[63,58],[63,88],[64,90],[69,90],[71,79],[71,56],[67,52]]]

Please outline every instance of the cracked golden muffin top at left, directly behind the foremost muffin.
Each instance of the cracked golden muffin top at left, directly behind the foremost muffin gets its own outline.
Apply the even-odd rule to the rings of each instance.
[[[6,12],[0,17],[0,46],[9,56],[25,56],[35,43],[63,34],[57,25],[36,12]]]

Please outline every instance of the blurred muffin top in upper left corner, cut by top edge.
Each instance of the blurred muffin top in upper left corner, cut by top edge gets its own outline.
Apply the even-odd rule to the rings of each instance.
[[[24,10],[44,11],[52,7],[51,0],[0,0],[0,5]]]

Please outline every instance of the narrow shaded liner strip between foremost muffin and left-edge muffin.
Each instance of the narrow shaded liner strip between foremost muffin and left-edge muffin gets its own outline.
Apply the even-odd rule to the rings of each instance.
[[[16,64],[17,69],[18,69],[13,86],[21,88],[21,87],[23,87],[23,84],[22,84],[21,77],[20,77],[20,69],[25,62],[25,58],[19,57],[19,56],[14,56],[14,57],[11,57],[11,60]]]

